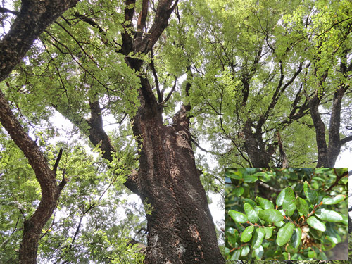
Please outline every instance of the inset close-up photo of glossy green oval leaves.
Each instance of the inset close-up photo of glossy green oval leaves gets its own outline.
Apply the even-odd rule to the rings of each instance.
[[[227,260],[347,260],[348,168],[227,168]]]

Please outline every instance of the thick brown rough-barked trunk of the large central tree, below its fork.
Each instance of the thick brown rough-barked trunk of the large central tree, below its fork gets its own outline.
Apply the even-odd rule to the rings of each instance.
[[[153,208],[147,215],[145,263],[225,263],[196,169],[185,107],[173,126],[163,125],[157,109],[152,112],[139,108],[133,127],[142,144],[139,196]]]

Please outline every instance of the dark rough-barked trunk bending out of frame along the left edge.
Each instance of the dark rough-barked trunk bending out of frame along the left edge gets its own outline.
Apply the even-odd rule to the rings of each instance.
[[[3,81],[25,56],[28,49],[45,28],[77,0],[63,1],[22,1],[17,18],[11,29],[0,42],[0,82]],[[65,185],[56,182],[56,170],[49,163],[35,142],[23,130],[13,115],[4,94],[0,91],[0,122],[11,139],[27,157],[42,189],[42,198],[34,214],[24,222],[23,238],[20,245],[19,263],[37,263],[39,237],[45,223],[56,207],[58,196]]]

